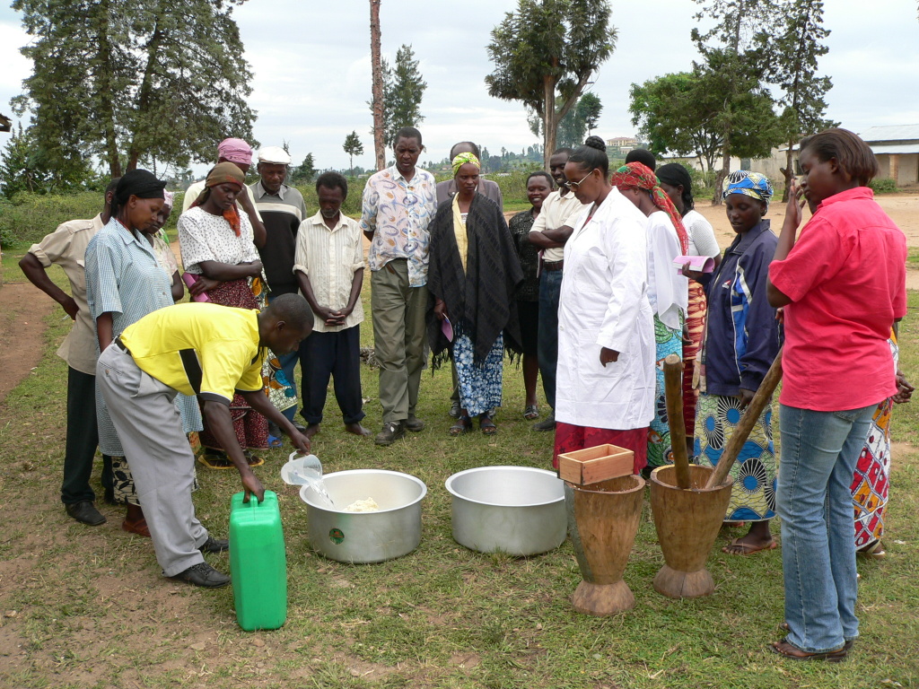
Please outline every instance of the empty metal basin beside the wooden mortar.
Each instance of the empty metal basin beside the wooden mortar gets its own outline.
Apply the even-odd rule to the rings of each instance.
[[[482,553],[537,555],[562,545],[567,530],[564,484],[554,471],[480,467],[447,480],[453,538]]]

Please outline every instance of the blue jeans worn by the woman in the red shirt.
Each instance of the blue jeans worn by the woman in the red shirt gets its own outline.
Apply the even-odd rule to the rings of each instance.
[[[858,636],[852,472],[877,403],[844,412],[779,406],[777,513],[789,643],[810,653]]]

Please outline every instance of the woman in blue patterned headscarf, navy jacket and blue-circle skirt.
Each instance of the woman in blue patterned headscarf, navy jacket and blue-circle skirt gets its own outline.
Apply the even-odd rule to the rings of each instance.
[[[702,344],[695,450],[699,464],[714,467],[743,410],[778,352],[776,310],[766,299],[769,263],[777,237],[764,220],[772,198],[765,175],[738,170],[728,176],[724,204],[737,236],[714,273],[693,274],[706,287],[709,321]],[[776,515],[777,460],[772,410],[760,415],[731,469],[734,480],[727,522],[750,522],[749,532],[723,548],[749,555],[776,548],[769,520]]]

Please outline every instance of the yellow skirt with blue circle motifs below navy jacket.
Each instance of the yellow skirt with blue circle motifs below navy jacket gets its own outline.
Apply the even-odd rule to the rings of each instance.
[[[740,398],[726,395],[698,396],[696,455],[703,467],[718,464],[721,452],[743,416]],[[772,442],[772,407],[756,420],[753,431],[731,468],[734,485],[726,522],[764,522],[776,516],[778,460]]]

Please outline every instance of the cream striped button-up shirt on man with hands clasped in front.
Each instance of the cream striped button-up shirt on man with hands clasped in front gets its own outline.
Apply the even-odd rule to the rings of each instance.
[[[364,247],[356,220],[339,213],[334,228],[325,224],[322,213],[303,220],[297,232],[293,269],[310,277],[312,293],[321,306],[334,311],[344,309],[351,296],[354,274],[363,267]],[[317,333],[337,333],[363,320],[364,306],[357,299],[344,325],[329,326],[319,316],[314,316],[312,329]]]

